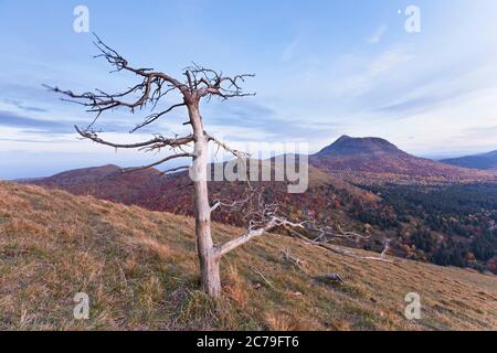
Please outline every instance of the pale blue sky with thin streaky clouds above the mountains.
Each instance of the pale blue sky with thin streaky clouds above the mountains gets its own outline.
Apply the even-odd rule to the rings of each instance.
[[[73,29],[77,6],[89,11],[88,33]],[[406,31],[410,6],[420,32]],[[497,149],[496,0],[0,0],[0,179],[157,158],[78,139],[73,126],[94,117],[42,86],[118,92],[136,82],[93,57],[92,32],[133,65],[177,77],[191,62],[255,73],[245,86],[255,97],[202,105],[207,130],[235,147],[316,152],[349,135],[433,158]],[[96,127],[119,142],[188,132],[178,110],[130,135],[145,116],[118,110]]]

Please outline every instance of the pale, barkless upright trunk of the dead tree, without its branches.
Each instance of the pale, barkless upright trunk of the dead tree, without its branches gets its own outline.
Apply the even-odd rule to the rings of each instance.
[[[195,237],[200,259],[202,286],[212,298],[221,297],[220,256],[211,235],[211,206],[207,183],[208,137],[203,131],[202,117],[197,104],[189,105],[190,121],[193,127],[195,150],[193,157],[193,188],[195,208]]]

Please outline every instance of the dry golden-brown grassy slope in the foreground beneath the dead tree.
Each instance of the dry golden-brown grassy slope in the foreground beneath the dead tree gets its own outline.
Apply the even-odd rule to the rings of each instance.
[[[218,240],[240,233],[214,227]],[[276,235],[223,260],[226,298],[215,304],[199,290],[190,218],[0,183],[0,329],[497,330],[496,277],[356,260]],[[346,284],[313,279],[327,272]],[[91,297],[88,321],[72,319],[80,291]],[[419,322],[403,317],[411,291]]]

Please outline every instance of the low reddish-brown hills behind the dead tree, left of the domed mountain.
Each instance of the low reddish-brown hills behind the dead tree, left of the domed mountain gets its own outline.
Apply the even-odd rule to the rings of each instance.
[[[193,195],[188,172],[163,175],[156,169],[123,173],[117,165],[103,165],[66,171],[53,176],[25,183],[50,189],[65,190],[76,195],[92,195],[127,205],[138,205],[150,211],[165,211],[180,215],[192,215]],[[309,188],[305,194],[288,194],[285,182],[252,182],[252,186],[264,190],[267,199],[284,203],[288,211],[297,208],[328,213],[343,207],[339,200],[357,199],[370,203],[378,200],[372,193],[343,180],[309,167]],[[242,200],[247,193],[245,182],[209,182],[212,200]],[[335,205],[335,206],[334,206]],[[241,214],[220,210],[214,220],[234,225],[244,225]],[[345,220],[349,222],[350,220]]]

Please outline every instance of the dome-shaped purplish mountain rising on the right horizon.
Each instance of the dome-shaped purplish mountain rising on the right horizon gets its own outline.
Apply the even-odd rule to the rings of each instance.
[[[342,136],[309,159],[332,175],[360,183],[446,183],[496,180],[496,175],[409,154],[381,138]]]

